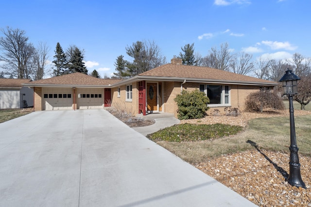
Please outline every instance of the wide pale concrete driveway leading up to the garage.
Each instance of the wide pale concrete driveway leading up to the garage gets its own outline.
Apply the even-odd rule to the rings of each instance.
[[[0,124],[1,207],[255,206],[104,110]]]

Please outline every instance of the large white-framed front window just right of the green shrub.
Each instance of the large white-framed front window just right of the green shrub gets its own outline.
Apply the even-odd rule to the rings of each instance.
[[[209,106],[230,105],[230,88],[228,85],[200,84],[200,91],[209,98]]]

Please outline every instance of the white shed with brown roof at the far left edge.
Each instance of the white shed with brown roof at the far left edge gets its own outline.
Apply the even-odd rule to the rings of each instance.
[[[0,79],[0,109],[34,106],[34,89],[22,85],[30,79]]]

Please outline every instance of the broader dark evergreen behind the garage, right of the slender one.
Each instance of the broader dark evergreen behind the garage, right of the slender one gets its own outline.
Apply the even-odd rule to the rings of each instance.
[[[87,69],[84,65],[83,58],[84,57],[81,50],[77,47],[74,47],[68,63],[69,73],[80,72],[87,74]]]

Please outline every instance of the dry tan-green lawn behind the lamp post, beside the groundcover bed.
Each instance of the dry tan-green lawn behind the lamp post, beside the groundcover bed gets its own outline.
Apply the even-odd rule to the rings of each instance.
[[[260,118],[261,117],[261,118]],[[182,121],[181,123],[187,122]],[[176,156],[192,164],[212,157],[254,149],[248,140],[256,142],[260,148],[272,151],[288,151],[289,112],[288,110],[249,113],[242,112],[238,117],[207,116],[203,119],[188,120],[192,124],[232,124],[245,127],[237,135],[199,142],[157,142]],[[249,124],[249,125],[248,125]],[[311,156],[311,111],[295,111],[295,127],[299,153]]]

